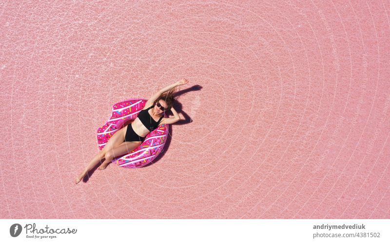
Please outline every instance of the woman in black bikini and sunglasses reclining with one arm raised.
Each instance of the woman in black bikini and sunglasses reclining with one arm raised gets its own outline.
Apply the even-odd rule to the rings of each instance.
[[[129,153],[130,151],[136,149],[143,142],[149,132],[155,130],[158,126],[163,124],[173,124],[179,121],[180,116],[172,107],[174,102],[173,95],[176,92],[177,86],[188,84],[188,82],[189,81],[187,79],[183,78],[153,94],[146,102],[142,111],[138,113],[137,118],[129,125],[115,132],[104,148],[99,151],[91,162],[89,162],[84,171],[76,178],[76,184],[78,184],[88,171],[94,168],[103,158],[105,158],[105,161],[100,165],[98,168],[99,170],[105,169],[108,163],[110,163],[115,157]],[[164,94],[167,91],[169,92]],[[171,109],[175,117],[163,117],[162,113],[169,109]]]

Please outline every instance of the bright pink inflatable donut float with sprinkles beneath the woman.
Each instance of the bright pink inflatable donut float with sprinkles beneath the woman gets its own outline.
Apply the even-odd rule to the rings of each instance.
[[[106,124],[98,128],[100,150],[104,148],[116,131],[124,127],[123,124],[137,118],[146,102],[146,99],[129,99],[113,106],[111,117]],[[112,163],[124,168],[139,168],[151,163],[164,148],[168,138],[168,128],[168,124],[158,126],[145,137],[145,140],[135,150],[114,159]]]

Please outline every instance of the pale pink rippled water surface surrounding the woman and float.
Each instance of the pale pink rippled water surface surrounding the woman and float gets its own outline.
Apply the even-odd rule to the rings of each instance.
[[[0,3],[0,218],[390,218],[390,3]],[[164,153],[74,179],[182,77]],[[190,122],[190,120],[193,122]]]

